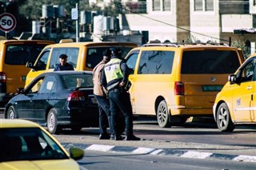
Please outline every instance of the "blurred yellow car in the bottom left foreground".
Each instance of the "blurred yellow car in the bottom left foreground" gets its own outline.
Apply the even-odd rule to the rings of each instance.
[[[75,160],[84,151],[70,154],[41,126],[25,120],[0,119],[0,169],[83,169]]]

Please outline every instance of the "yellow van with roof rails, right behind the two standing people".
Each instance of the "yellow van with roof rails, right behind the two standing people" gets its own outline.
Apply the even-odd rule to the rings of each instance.
[[[146,44],[126,56],[134,115],[156,116],[160,127],[212,116],[216,94],[242,64],[227,45]]]

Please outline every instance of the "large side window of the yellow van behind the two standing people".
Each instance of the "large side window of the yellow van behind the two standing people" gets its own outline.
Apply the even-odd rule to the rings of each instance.
[[[171,73],[174,62],[174,51],[142,51],[138,74]]]

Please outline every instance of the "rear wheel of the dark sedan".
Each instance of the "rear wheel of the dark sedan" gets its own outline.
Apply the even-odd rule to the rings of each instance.
[[[61,129],[58,127],[56,109],[50,109],[47,116],[47,130],[51,134],[59,134]]]

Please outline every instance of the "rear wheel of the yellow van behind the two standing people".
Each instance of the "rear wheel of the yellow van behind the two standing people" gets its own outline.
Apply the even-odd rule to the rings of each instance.
[[[158,125],[161,128],[170,128],[170,114],[166,105],[166,101],[161,101],[157,110]]]

